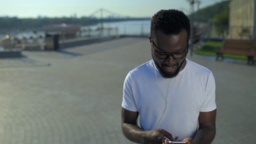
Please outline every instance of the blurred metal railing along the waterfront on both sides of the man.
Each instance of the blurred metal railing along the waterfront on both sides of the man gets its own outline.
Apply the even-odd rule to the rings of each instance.
[[[150,34],[150,23],[120,24],[118,27],[81,27],[75,35],[60,34],[60,42],[67,40],[86,40],[99,37],[148,36]],[[243,39],[256,40],[256,27],[212,25],[210,23],[195,23],[195,35],[200,40],[225,40]],[[1,37],[2,40],[1,40]],[[45,32],[21,32],[2,35],[0,37],[0,50],[4,48],[40,47],[45,45]]]

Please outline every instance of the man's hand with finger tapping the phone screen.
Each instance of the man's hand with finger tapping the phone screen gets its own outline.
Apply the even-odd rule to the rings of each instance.
[[[163,129],[155,129],[152,131],[144,131],[144,144],[162,144],[166,139],[165,137],[171,141],[178,139],[178,137],[173,139],[173,136],[171,133],[168,133],[168,131]]]

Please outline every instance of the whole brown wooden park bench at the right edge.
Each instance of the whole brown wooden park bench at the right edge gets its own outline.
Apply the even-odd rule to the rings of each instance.
[[[235,54],[247,56],[247,64],[254,64],[253,57],[256,56],[255,40],[225,40],[220,51],[216,51],[216,61],[223,60],[223,54]]]

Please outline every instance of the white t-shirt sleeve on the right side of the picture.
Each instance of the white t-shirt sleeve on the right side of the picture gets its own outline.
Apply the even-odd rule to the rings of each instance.
[[[200,112],[211,112],[216,109],[215,88],[215,80],[211,72],[208,76],[206,85],[206,96],[202,106],[200,107]]]

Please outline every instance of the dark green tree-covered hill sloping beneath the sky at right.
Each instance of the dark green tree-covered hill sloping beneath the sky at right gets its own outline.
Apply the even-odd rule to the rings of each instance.
[[[225,0],[220,3],[205,7],[195,12],[195,21],[208,22],[214,18],[216,14],[224,13],[224,11],[229,11],[230,0]],[[191,18],[193,14],[189,15]]]

